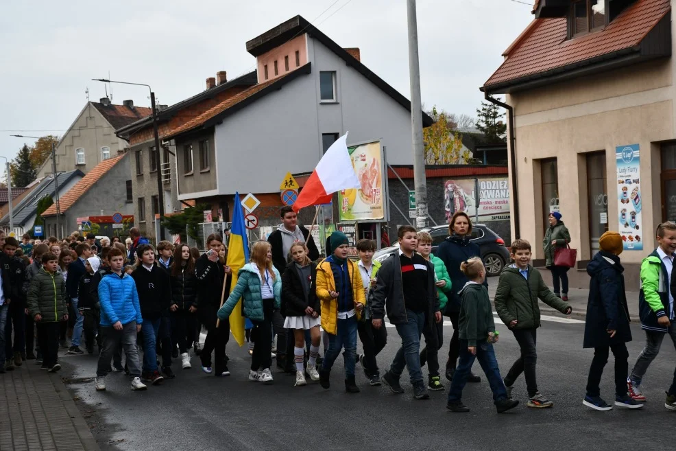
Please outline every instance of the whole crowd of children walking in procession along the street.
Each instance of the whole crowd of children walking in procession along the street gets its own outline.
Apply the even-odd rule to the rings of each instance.
[[[466,224],[461,232],[468,233],[469,218],[461,220]],[[454,233],[454,225],[450,233]],[[583,404],[595,410],[612,408],[601,398],[599,389],[609,351],[615,357],[614,405],[640,408],[646,400],[642,378],[660,351],[664,336],[676,345],[676,224],[660,224],[656,235],[658,246],[644,259],[640,272],[638,302],[646,345],[631,372],[626,343],[632,337],[619,258],[623,251],[621,236],[612,231],[604,233],[599,240],[600,251],[588,264],[590,294],[583,347],[593,348],[594,357]],[[457,230],[453,236],[464,243],[464,235]],[[459,257],[459,267],[448,268],[448,255],[440,259],[431,253],[429,233],[418,233],[410,226],[398,229],[398,252],[383,262],[374,262],[376,245],[372,240],[360,240],[359,260],[350,259],[348,237],[339,231],[330,235],[328,257],[319,262],[311,260],[303,240],[295,240],[288,243],[288,263],[281,273],[274,264],[273,245],[255,242],[250,262],[239,270],[232,292],[227,247],[219,235],[207,238],[208,250],[202,255],[186,244],[174,246],[166,241],[158,243],[156,252],[138,239],[125,248],[119,240],[104,242],[112,244],[104,246],[95,239],[90,242],[89,237],[72,238],[68,243],[55,238],[31,243],[25,236],[19,243],[0,234],[0,361],[4,362],[0,373],[32,359],[42,369],[58,371],[58,349],[66,347],[66,337],[71,337],[69,354],[84,354],[80,349],[84,335],[88,354],[93,354],[95,345],[99,350],[97,390],[106,389],[110,371],[125,371],[131,388],[143,390],[147,388],[144,382],[160,384],[176,377],[172,358],[180,355],[182,369],[191,368],[191,348],[199,350],[197,343],[204,327],[204,347],[195,352],[200,355],[202,371],[227,376],[228,319],[234,308],[241,308],[250,325],[248,339],[253,343],[248,380],[274,382],[271,365],[274,329],[278,327],[274,327],[274,321],[279,313],[285,319],[288,339],[293,340],[296,386],[306,385],[307,375],[329,389],[330,372],[342,352],[348,393],[360,391],[355,380],[356,364],[360,363],[370,385],[384,383],[393,393],[405,392],[400,377],[407,368],[413,397],[423,400],[429,397],[429,391],[445,389],[438,358],[445,313],[454,319],[457,333],[451,347],[458,347],[457,365],[453,363],[450,374],[447,371],[451,381],[449,410],[469,410],[462,402],[462,392],[466,382],[478,379],[471,373],[474,360],[479,361],[490,384],[498,413],[519,404],[512,395],[521,373],[527,406],[553,406],[536,380],[537,329],[541,321],[538,301],[563,314],[570,314],[572,308],[544,284],[538,269],[531,265],[531,245],[525,240],[511,243],[514,263],[501,273],[494,297],[500,320],[520,347],[520,356],[502,378],[494,353],[500,336],[481,258],[472,256],[468,248],[468,253]],[[134,248],[133,255],[127,253],[130,247]],[[130,257],[134,257],[133,262]],[[447,308],[449,299],[457,303],[452,309]],[[381,377],[376,356],[387,343],[385,316],[402,344]],[[319,356],[320,326],[325,334],[323,359]],[[361,355],[357,354],[357,337],[363,347]],[[421,350],[422,337],[425,342]],[[422,373],[425,365],[426,381]],[[666,393],[665,407],[676,410],[676,372]]]

